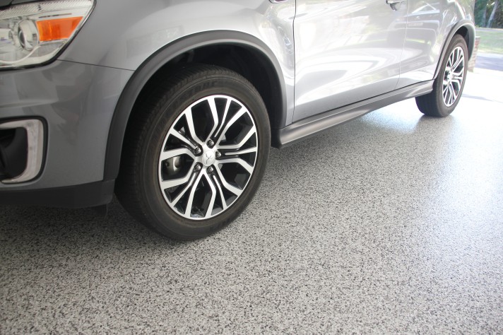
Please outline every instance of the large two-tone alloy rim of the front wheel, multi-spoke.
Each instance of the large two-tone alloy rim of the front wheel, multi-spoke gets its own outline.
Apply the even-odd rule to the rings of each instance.
[[[258,151],[255,122],[242,102],[228,95],[202,98],[177,117],[162,143],[162,196],[184,218],[218,216],[242,196]]]

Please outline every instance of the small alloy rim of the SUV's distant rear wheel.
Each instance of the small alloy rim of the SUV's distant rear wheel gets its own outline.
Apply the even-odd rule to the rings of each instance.
[[[458,100],[464,75],[465,53],[461,47],[456,47],[449,55],[444,71],[442,98],[447,107],[451,107]]]

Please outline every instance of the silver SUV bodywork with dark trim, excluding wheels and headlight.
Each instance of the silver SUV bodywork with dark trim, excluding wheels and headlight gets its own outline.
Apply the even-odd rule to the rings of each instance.
[[[266,108],[264,136],[280,148],[431,94],[449,43],[463,37],[468,59],[475,41],[469,0],[73,2],[87,12],[51,57],[19,64],[0,57],[2,204],[108,204],[138,99],[191,64],[246,79]],[[30,20],[11,12],[40,4],[66,6],[0,0],[0,22],[10,13],[0,42],[11,38],[8,25]]]

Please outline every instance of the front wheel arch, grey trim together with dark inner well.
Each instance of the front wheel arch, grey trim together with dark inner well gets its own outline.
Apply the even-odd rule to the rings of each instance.
[[[266,104],[271,129],[284,127],[287,104],[283,71],[264,42],[247,33],[227,30],[189,35],[146,59],[126,84],[110,124],[104,180],[117,178],[127,124],[142,91],[148,89],[156,74],[167,71],[169,75],[191,62],[223,66],[247,78]]]

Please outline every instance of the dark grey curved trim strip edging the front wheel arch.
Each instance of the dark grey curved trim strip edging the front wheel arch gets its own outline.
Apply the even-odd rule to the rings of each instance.
[[[114,180],[119,173],[119,165],[122,155],[122,143],[126,132],[129,116],[134,104],[143,87],[150,78],[169,61],[178,57],[191,49],[208,47],[211,45],[236,45],[249,48],[255,52],[260,52],[271,61],[271,65],[276,70],[278,85],[280,88],[281,104],[280,110],[274,111],[280,114],[280,123],[285,124],[286,120],[286,86],[282,80],[283,71],[280,63],[272,50],[261,40],[247,33],[232,30],[218,30],[205,33],[196,33],[176,40],[162,49],[152,54],[146,61],[138,67],[133,76],[129,79],[119,101],[114,110],[110,131],[108,134],[107,151],[105,155],[104,180]]]

